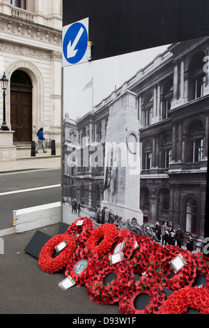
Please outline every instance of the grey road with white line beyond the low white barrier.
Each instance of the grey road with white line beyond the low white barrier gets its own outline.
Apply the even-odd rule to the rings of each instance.
[[[13,228],[13,210],[61,202],[61,169],[0,174],[0,230]]]

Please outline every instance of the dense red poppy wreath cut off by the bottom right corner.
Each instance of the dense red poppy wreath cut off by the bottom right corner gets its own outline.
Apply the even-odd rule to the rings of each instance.
[[[162,314],[182,314],[188,308],[200,311],[200,314],[209,314],[209,290],[206,288],[185,287],[175,290],[162,306]]]

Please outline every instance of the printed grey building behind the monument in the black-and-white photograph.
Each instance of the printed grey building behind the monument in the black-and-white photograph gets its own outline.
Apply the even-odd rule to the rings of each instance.
[[[68,167],[72,149],[68,146],[77,142],[84,149],[100,142],[105,148],[111,108],[120,104],[119,99],[123,106],[125,95],[130,94],[130,107],[137,117],[135,133],[142,144],[139,211],[143,222],[167,222],[174,230],[180,227],[185,241],[192,234],[196,249],[201,248],[208,165],[208,41],[205,37],[170,45],[93,112],[73,124],[65,117],[64,196],[77,198],[88,209],[104,200],[104,168]],[[118,121],[120,128],[125,126]]]

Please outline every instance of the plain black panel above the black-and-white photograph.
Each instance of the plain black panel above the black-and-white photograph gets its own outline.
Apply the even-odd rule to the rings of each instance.
[[[63,0],[63,26],[89,17],[93,60],[209,35],[207,0]]]

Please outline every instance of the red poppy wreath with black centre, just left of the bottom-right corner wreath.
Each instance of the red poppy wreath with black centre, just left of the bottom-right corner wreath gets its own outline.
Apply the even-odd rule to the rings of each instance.
[[[119,301],[121,314],[159,314],[164,304],[166,295],[160,284],[153,283],[146,276],[141,276],[138,281],[131,281],[130,289]],[[142,310],[134,306],[134,300],[141,294],[146,293],[150,296],[149,304]]]

